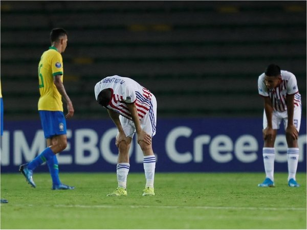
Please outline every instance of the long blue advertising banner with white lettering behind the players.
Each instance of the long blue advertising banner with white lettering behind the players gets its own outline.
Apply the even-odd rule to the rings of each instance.
[[[57,154],[61,172],[115,172],[117,129],[111,120],[67,121],[68,146]],[[262,119],[158,119],[153,137],[157,172],[264,172]],[[298,172],[306,172],[306,119],[299,136]],[[1,173],[18,172],[46,148],[40,121],[4,122]],[[143,172],[143,153],[135,139],[130,172]],[[47,172],[40,166],[38,172]],[[287,172],[283,127],[275,142],[275,171]]]

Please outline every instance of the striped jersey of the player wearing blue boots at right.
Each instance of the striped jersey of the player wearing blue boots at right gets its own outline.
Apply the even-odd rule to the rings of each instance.
[[[297,81],[294,74],[288,71],[280,71],[281,83],[274,89],[268,89],[265,83],[265,73],[258,78],[258,93],[263,97],[270,97],[275,111],[286,111],[286,96],[294,95],[294,107],[301,106],[301,96],[298,91]]]

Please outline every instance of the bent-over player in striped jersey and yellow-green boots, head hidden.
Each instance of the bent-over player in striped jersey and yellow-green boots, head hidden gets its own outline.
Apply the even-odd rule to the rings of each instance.
[[[127,196],[126,182],[130,169],[129,148],[134,133],[143,154],[146,186],[143,196],[154,196],[156,157],[151,139],[156,134],[157,101],[148,89],[133,79],[110,76],[95,85],[95,98],[105,107],[118,128],[116,146],[119,149],[117,164],[118,188],[107,196]]]

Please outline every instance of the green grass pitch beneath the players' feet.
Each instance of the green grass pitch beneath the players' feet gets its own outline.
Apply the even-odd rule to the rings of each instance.
[[[143,173],[128,175],[127,197],[106,197],[115,173],[61,173],[73,191],[52,191],[49,174],[36,189],[21,174],[1,175],[2,229],[306,229],[306,174],[289,188],[258,188],[264,173],[156,173],[154,197],[142,197]]]

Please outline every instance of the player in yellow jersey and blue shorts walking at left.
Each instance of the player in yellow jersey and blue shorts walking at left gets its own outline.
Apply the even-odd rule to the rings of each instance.
[[[67,147],[66,120],[74,115],[73,103],[67,95],[63,85],[63,60],[62,55],[67,47],[68,34],[62,28],[55,28],[50,33],[51,47],[43,52],[38,64],[38,80],[40,98],[38,111],[42,129],[47,141],[47,148],[36,158],[25,165],[21,165],[19,171],[24,174],[32,187],[36,187],[33,181],[33,170],[47,162],[52,178],[52,189],[74,189],[64,185],[59,179],[59,169],[56,154]],[[68,113],[64,117],[62,98],[67,104]]]

